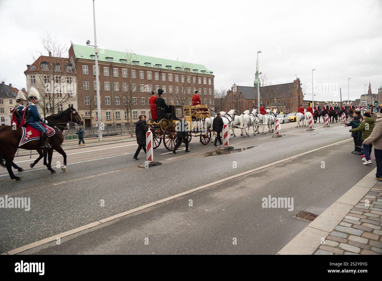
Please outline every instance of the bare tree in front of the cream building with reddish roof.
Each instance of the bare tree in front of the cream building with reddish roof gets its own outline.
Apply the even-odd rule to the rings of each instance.
[[[63,109],[63,103],[73,98],[74,83],[70,76],[76,74],[74,67],[64,57],[67,52],[65,45],[49,34],[41,43],[43,52],[48,53],[49,58],[39,62],[39,75],[36,75],[36,83],[33,86],[41,93],[38,106],[45,118],[47,113],[55,114],[56,110]],[[41,55],[44,54],[36,51],[32,58],[36,61]]]

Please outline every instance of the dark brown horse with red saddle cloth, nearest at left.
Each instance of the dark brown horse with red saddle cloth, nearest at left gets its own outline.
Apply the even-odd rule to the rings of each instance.
[[[62,133],[63,129],[66,127],[67,123],[74,122],[78,125],[83,125],[83,121],[81,119],[81,116],[73,108],[73,106],[58,114],[53,114],[49,116],[49,118],[47,117],[47,120],[49,122],[49,125],[55,129],[56,133],[55,135],[48,138],[48,143],[50,146],[52,146],[52,148],[48,149],[48,162],[44,162],[44,164],[47,164],[46,166],[48,170],[53,174],[55,173],[51,165],[53,149],[63,156],[64,165],[62,167],[62,170],[66,170],[66,154],[61,147],[61,144],[64,141]],[[18,149],[18,144],[21,140],[22,133],[23,130],[19,127],[16,127],[16,130],[13,130],[12,126],[0,126],[0,147],[2,147],[2,150],[0,151],[0,165],[3,167],[5,166],[11,179],[15,180],[21,179],[20,177],[16,177],[15,174],[13,174],[12,166],[16,169],[20,169],[18,166],[16,166],[15,163],[13,163],[13,159],[15,158],[15,154]],[[42,152],[40,149],[40,140],[29,141],[28,143],[20,146],[20,148],[27,150],[37,150],[40,154],[40,158],[38,160],[42,158],[42,153],[40,153]],[[34,164],[36,164],[36,161]]]

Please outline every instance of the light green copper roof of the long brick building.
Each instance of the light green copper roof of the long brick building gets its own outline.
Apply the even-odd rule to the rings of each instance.
[[[74,55],[76,58],[83,58],[86,60],[93,60],[94,58],[91,55],[95,55],[94,47],[84,46],[84,45],[76,45],[73,44]],[[145,63],[151,63],[152,68],[158,68],[157,65],[162,65],[162,69],[167,69],[167,65],[172,67],[172,70],[176,70],[176,67],[189,68],[192,73],[196,73],[194,69],[198,70],[197,73],[202,73],[202,71],[206,71],[206,74],[213,75],[211,70],[208,70],[204,65],[190,63],[190,62],[180,62],[178,60],[167,60],[165,58],[155,58],[148,57],[146,55],[137,55],[137,54],[128,54],[126,52],[118,52],[107,49],[98,49],[98,60],[103,62],[108,62],[108,57],[113,58],[114,63],[122,63],[121,60],[126,60],[127,57],[131,57],[134,61],[138,61],[140,66],[146,66]],[[130,56],[132,55],[132,56]],[[184,71],[184,70],[183,70]]]

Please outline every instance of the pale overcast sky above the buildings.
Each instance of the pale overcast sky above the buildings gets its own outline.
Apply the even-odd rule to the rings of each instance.
[[[95,0],[100,48],[200,63],[215,89],[272,84],[297,75],[305,99],[343,100],[382,83],[382,1]],[[92,0],[0,0],[0,79],[26,87],[24,71],[47,33],[69,49],[94,43]]]

